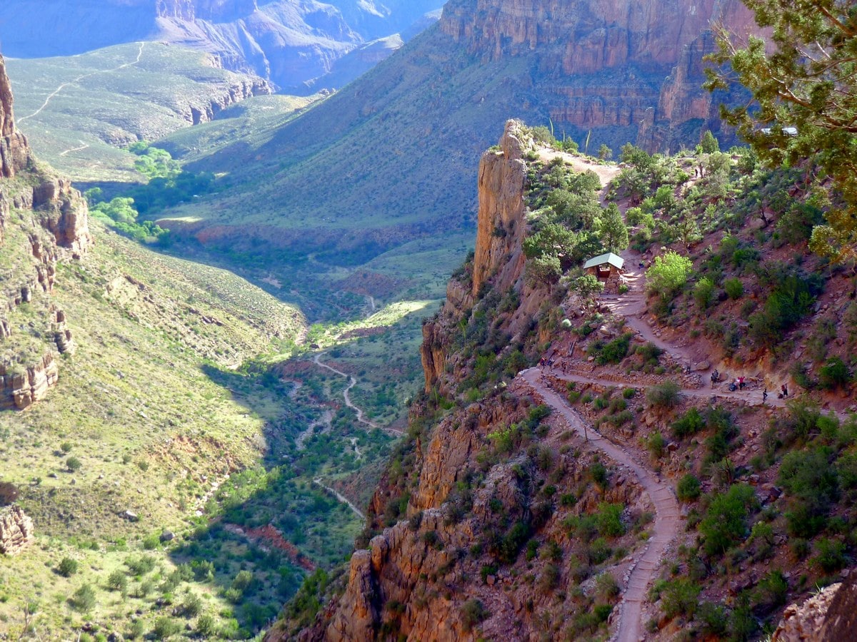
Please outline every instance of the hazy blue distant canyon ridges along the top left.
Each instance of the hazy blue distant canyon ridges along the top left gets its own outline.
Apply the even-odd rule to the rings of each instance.
[[[407,39],[440,0],[79,0],[74,8],[8,0],[3,9],[0,44],[7,56],[68,56],[157,39],[207,51],[225,68],[302,92],[347,53],[397,33]],[[336,80],[354,77],[340,73]]]

